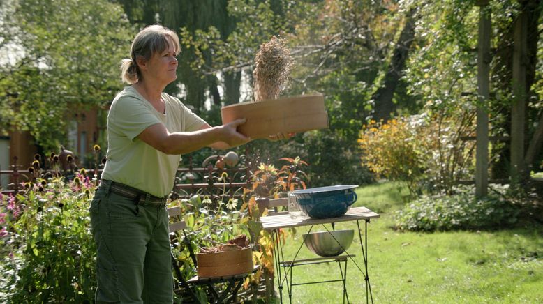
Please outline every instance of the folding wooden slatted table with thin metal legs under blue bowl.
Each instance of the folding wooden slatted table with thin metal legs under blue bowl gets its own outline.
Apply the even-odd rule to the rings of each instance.
[[[285,264],[285,259],[283,258],[283,247],[281,245],[281,242],[279,242],[279,236],[278,236],[278,230],[283,228],[289,228],[289,227],[300,227],[300,226],[310,226],[310,229],[308,233],[313,229],[314,225],[322,225],[322,227],[325,227],[325,224],[332,224],[335,222],[347,222],[355,220],[357,221],[357,228],[358,228],[358,234],[359,234],[359,240],[360,240],[360,248],[362,250],[362,257],[364,259],[364,270],[362,270],[356,263],[354,259],[352,259],[352,255],[348,254],[347,257],[351,259],[357,268],[359,269],[360,273],[364,276],[364,281],[366,282],[366,303],[369,303],[371,300],[371,303],[373,303],[373,295],[371,294],[371,285],[369,282],[369,276],[368,276],[368,223],[372,218],[379,218],[378,213],[375,213],[371,211],[369,208],[366,207],[355,207],[350,208],[345,215],[339,217],[339,218],[324,218],[324,219],[314,219],[314,218],[308,218],[308,217],[301,217],[301,218],[290,218],[290,215],[288,213],[282,213],[278,215],[268,215],[263,216],[260,218],[260,222],[262,222],[262,228],[267,231],[272,231],[272,237],[274,238],[274,261],[276,264],[276,273],[278,278],[278,289],[279,289],[279,295],[281,298],[281,303],[283,303],[283,282],[287,283],[288,287],[288,296],[290,303],[292,303],[292,266],[295,264],[297,254],[295,254],[295,257],[290,261],[290,268],[288,268],[286,271],[281,272],[281,265]],[[362,241],[362,231],[360,227],[360,221],[364,221],[364,242]],[[325,227],[325,229],[328,231],[328,229]],[[304,242],[302,241],[302,244],[300,245],[300,248],[304,245]],[[290,284],[288,280],[288,274],[291,274]],[[343,274],[342,274],[343,276]],[[345,280],[345,279],[344,279]],[[345,291],[346,292],[346,291]]]

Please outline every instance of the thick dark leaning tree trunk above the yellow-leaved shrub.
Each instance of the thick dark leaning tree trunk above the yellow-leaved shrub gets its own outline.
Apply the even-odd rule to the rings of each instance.
[[[375,102],[373,118],[377,121],[380,119],[387,121],[390,114],[396,108],[393,102],[394,91],[400,82],[403,73],[403,68],[406,67],[409,48],[415,38],[415,15],[417,8],[411,8],[406,15],[406,24],[403,26],[398,43],[392,54],[389,70],[385,75],[385,80],[382,86],[373,93],[372,99]]]

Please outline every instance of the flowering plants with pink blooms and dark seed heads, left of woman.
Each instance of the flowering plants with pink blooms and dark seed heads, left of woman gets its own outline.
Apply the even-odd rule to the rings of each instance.
[[[0,239],[6,252],[0,294],[13,303],[90,303],[96,287],[87,211],[92,183],[82,174],[70,182],[35,182],[17,197],[3,197],[9,220]]]

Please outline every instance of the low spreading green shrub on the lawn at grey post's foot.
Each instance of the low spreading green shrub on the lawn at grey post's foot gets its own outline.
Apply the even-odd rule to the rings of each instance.
[[[512,225],[521,209],[505,189],[477,199],[473,188],[454,195],[422,196],[399,211],[396,228],[410,231],[493,229]]]

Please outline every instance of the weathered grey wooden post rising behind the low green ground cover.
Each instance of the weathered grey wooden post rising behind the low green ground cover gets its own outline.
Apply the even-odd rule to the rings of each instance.
[[[491,11],[488,1],[479,5],[479,37],[477,38],[477,144],[475,153],[475,195],[484,197],[489,185],[489,100]]]

